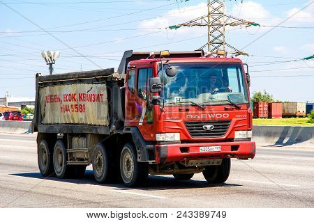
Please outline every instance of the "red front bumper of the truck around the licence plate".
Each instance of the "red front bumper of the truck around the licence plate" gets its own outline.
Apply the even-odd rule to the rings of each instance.
[[[221,151],[200,152],[200,147],[220,146]],[[237,141],[221,143],[178,143],[155,145],[156,162],[184,161],[196,159],[238,158],[253,159],[255,142]]]

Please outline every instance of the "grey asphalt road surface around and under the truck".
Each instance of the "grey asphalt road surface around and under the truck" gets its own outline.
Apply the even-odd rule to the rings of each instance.
[[[232,160],[225,184],[197,174],[177,182],[150,176],[147,187],[97,184],[40,175],[36,136],[0,134],[0,207],[314,207],[314,149],[257,148],[255,159]]]

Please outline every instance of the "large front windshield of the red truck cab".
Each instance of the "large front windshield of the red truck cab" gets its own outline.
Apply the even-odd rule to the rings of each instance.
[[[248,103],[247,87],[240,63],[170,63],[177,72],[174,77],[161,74],[164,91],[161,97],[165,105],[197,104],[234,104]]]

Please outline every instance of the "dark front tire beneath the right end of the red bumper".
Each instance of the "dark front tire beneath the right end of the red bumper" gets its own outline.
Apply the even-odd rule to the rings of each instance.
[[[223,183],[230,175],[230,158],[223,159],[220,166],[205,166],[203,175],[209,183]]]

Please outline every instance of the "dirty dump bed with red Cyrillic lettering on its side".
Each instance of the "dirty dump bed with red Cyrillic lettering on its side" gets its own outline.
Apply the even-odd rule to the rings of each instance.
[[[113,74],[113,68],[36,74],[33,132],[110,134],[122,127],[123,81]]]

